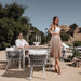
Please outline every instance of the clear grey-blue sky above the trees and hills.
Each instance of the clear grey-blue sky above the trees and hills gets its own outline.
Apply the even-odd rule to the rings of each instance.
[[[0,0],[2,5],[14,2],[28,6],[23,16],[30,17],[30,23],[43,32],[54,16],[59,17],[59,25],[76,23],[81,27],[81,0]]]

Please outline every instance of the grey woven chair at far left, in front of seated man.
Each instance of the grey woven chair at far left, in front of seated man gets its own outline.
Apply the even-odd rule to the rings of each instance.
[[[6,53],[6,59],[8,59],[5,71],[8,71],[11,63],[15,60],[18,60],[18,68],[21,69],[21,59],[22,59],[21,51],[19,50],[5,51],[5,53]]]

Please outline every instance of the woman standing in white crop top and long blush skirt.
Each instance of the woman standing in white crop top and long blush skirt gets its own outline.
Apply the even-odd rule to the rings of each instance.
[[[55,16],[53,18],[53,23],[50,27],[50,33],[52,35],[51,38],[51,57],[55,58],[55,72],[60,75],[60,67],[59,67],[59,58],[62,57],[62,40],[60,40],[60,28],[58,26],[59,18]],[[57,68],[58,67],[58,70]]]

